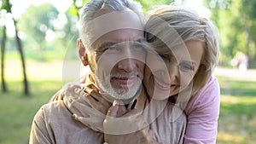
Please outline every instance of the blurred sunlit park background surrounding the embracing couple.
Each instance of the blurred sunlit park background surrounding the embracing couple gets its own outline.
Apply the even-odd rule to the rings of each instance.
[[[215,75],[221,87],[218,141],[256,141],[256,0],[137,0],[145,14],[183,4],[220,33]],[[87,0],[1,0],[0,144],[28,143],[32,118],[68,81],[79,78],[79,9]],[[74,73],[73,69],[79,69]]]

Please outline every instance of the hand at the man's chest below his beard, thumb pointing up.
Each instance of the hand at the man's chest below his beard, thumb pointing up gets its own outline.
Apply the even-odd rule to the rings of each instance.
[[[103,123],[105,141],[109,144],[158,144],[141,112],[138,109],[128,112],[121,102],[114,101]]]

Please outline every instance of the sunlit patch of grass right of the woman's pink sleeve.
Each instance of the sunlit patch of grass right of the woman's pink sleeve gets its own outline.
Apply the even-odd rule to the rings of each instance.
[[[221,87],[218,143],[247,144],[256,141],[256,83],[218,77]]]

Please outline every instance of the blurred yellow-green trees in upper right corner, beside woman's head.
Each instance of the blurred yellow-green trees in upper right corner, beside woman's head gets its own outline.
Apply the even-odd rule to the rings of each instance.
[[[228,65],[237,51],[249,57],[253,67],[256,43],[256,0],[205,0],[220,32],[220,61]]]

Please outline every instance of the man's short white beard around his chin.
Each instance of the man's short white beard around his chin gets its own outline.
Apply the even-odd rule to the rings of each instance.
[[[128,73],[122,73],[119,74],[119,76],[125,76],[129,75]],[[137,74],[139,75],[139,74]],[[128,100],[133,98],[135,95],[137,95],[137,91],[142,86],[142,78],[138,76],[137,82],[132,85],[126,85],[119,88],[113,88],[110,83],[110,77],[105,78],[104,80],[102,78],[99,78],[95,75],[96,84],[99,86],[100,89],[102,89],[105,93],[108,95],[111,95],[114,99],[117,100]]]

